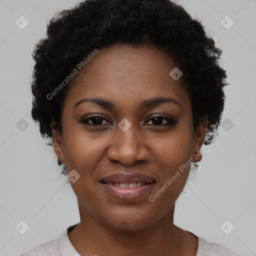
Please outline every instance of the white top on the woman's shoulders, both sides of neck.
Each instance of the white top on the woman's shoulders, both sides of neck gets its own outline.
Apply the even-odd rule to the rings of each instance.
[[[37,246],[19,256],[81,256],[67,236],[67,233],[76,225],[69,226],[58,238],[45,242],[41,246]],[[209,243],[201,237],[197,238],[198,248],[196,256],[240,256],[218,243]]]

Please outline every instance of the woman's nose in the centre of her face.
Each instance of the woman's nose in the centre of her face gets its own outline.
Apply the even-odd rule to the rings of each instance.
[[[119,161],[123,165],[129,166],[138,160],[149,160],[149,149],[135,129],[134,125],[131,125],[126,131],[117,127],[116,134],[111,139],[107,151],[109,161]]]

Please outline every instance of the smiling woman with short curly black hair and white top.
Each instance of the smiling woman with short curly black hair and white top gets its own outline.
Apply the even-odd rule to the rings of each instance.
[[[50,20],[33,52],[31,113],[80,222],[23,256],[237,255],[173,224],[220,122],[220,54],[169,0],[87,0]]]

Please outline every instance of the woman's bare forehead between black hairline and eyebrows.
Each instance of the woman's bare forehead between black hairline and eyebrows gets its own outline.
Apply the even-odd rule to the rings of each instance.
[[[176,66],[152,45],[104,47],[71,80],[66,100],[75,104],[82,97],[103,97],[116,105],[154,96],[189,100],[181,79],[169,75]]]

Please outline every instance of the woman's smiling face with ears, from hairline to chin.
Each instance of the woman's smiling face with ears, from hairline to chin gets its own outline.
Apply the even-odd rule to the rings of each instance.
[[[80,214],[137,230],[174,209],[189,174],[181,166],[206,132],[193,128],[189,96],[169,75],[175,66],[153,46],[114,45],[71,81],[53,143],[67,173],[80,175],[69,181]]]

